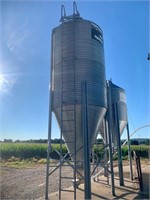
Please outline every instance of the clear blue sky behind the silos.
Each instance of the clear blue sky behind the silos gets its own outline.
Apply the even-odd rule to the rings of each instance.
[[[149,1],[76,3],[103,30],[106,77],[126,91],[130,133],[150,124]],[[47,138],[51,31],[62,4],[72,14],[72,1],[0,1],[0,140]],[[52,133],[59,137],[54,117]]]

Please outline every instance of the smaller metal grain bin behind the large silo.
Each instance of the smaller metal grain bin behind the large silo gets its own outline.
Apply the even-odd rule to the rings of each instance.
[[[110,99],[109,99],[110,95]],[[112,81],[107,81],[107,102],[109,102],[109,110],[107,112],[111,113],[111,133],[112,133],[112,143],[116,146],[117,144],[117,134],[116,134],[116,124],[119,123],[120,136],[122,135],[126,125],[127,125],[127,108],[126,108],[126,95],[125,90],[115,84]],[[117,115],[117,116],[116,116]],[[116,121],[117,120],[117,121]],[[106,139],[106,130],[104,124],[102,124],[99,130],[104,142]]]

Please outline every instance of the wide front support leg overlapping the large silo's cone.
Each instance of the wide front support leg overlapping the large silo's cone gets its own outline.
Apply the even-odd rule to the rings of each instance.
[[[83,142],[84,142],[84,196],[91,199],[91,174],[90,174],[90,136],[88,129],[88,102],[87,83],[82,82],[83,92]]]

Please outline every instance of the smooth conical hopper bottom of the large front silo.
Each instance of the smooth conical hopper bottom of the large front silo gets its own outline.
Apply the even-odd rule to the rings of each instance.
[[[70,111],[74,107],[74,112]],[[68,151],[72,155],[72,160],[76,161],[77,167],[79,170],[83,170],[83,161],[84,161],[84,141],[83,141],[83,123],[82,123],[82,105],[67,105],[63,106],[63,113],[61,115],[61,108],[57,107],[54,109],[55,116],[59,123],[59,126],[62,129],[63,138],[66,142]],[[66,111],[65,111],[66,110]],[[67,111],[68,110],[68,111]],[[93,147],[96,136],[98,134],[99,128],[102,124],[102,120],[106,113],[106,109],[99,106],[88,106],[88,128],[90,134],[90,147]],[[61,119],[61,116],[63,119]],[[75,120],[73,118],[75,117]],[[76,152],[75,152],[76,144]]]

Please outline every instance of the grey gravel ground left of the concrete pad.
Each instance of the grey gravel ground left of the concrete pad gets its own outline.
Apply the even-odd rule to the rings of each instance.
[[[58,191],[59,170],[50,177],[49,193]],[[63,175],[71,175],[71,168],[65,167]],[[45,196],[45,165],[37,165],[34,168],[16,169],[1,167],[1,198],[0,199],[38,199]],[[63,188],[72,185],[71,181],[64,180]]]

